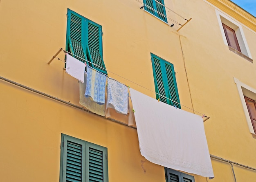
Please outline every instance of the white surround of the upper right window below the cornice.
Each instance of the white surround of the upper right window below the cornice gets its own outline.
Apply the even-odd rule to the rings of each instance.
[[[249,47],[247,45],[247,41],[245,39],[245,34],[243,32],[242,25],[239,24],[238,22],[236,22],[235,20],[233,20],[232,18],[228,17],[224,13],[221,13],[217,9],[215,9],[215,11],[216,11],[218,23],[219,23],[219,26],[220,26],[220,32],[222,34],[224,44],[226,46],[229,46],[228,43],[227,43],[227,38],[226,38],[226,35],[225,35],[225,32],[224,32],[222,23],[229,26],[231,29],[234,29],[234,31],[236,33],[236,38],[238,40],[238,44],[239,44],[240,49],[241,49],[241,53],[252,59],[252,55],[251,55]]]

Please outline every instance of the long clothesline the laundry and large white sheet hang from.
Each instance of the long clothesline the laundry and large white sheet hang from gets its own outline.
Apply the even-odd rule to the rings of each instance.
[[[67,51],[67,50],[63,50],[63,52],[65,53],[65,54],[67,54],[67,53],[70,53],[69,51]],[[74,55],[75,57],[79,57],[79,56],[77,56],[77,55],[75,55],[75,54],[73,54],[73,53],[70,53],[71,55]],[[62,62],[65,62],[65,61],[63,61],[63,60],[61,60],[60,58],[58,58],[58,57],[56,57],[55,56],[55,58],[56,59],[58,59],[59,61],[62,61]],[[85,61],[85,62],[89,62],[89,63],[91,63],[91,64],[93,64],[93,65],[95,65],[95,66],[98,66],[99,68],[101,68],[101,69],[103,69],[103,70],[106,70],[106,71],[108,71],[108,72],[111,72],[111,71],[109,71],[109,70],[107,70],[106,68],[102,68],[101,66],[99,66],[99,65],[97,65],[97,64],[94,64],[94,63],[92,63],[92,62],[90,62],[90,61],[88,61],[88,60],[86,60],[86,59],[84,59],[84,58],[82,58],[82,57],[79,57],[80,59],[82,59],[83,61]],[[66,62],[65,62],[66,63]],[[114,72],[111,72],[112,74],[114,74],[114,75],[117,75],[116,73],[114,73]],[[108,76],[108,75],[107,75]],[[117,76],[119,76],[119,77],[121,77],[121,78],[123,78],[123,79],[126,79],[125,77],[122,77],[122,76],[120,76],[120,75],[117,75]],[[135,83],[134,81],[131,81],[131,80],[129,80],[129,79],[126,79],[127,81],[130,81],[131,83],[134,83],[134,84],[136,84],[137,86],[140,86],[140,87],[142,87],[142,88],[144,88],[144,89],[146,89],[146,90],[149,90],[150,92],[154,92],[155,94],[158,94],[158,93],[156,93],[155,91],[153,91],[153,90],[150,90],[150,89],[148,89],[148,88],[146,88],[146,87],[144,87],[144,86],[141,86],[141,85],[139,85],[138,83]],[[125,84],[126,85],[126,84]],[[126,85],[127,86],[127,85]],[[129,86],[128,86],[129,87]],[[176,101],[173,101],[172,99],[169,99],[169,98],[167,98],[166,96],[163,96],[163,95],[161,95],[161,94],[158,94],[159,96],[162,96],[162,97],[164,97],[165,99],[168,99],[168,100],[170,100],[170,101],[172,101],[172,102],[174,102],[174,103],[176,103],[176,104],[180,104],[180,105],[182,105],[181,103],[178,103],[178,102],[176,102]],[[188,108],[188,109],[190,109],[190,110],[193,110],[193,109],[191,109],[190,107],[187,107],[186,105],[182,105],[183,107],[186,107],[186,108]],[[195,111],[195,110],[193,110],[194,112],[197,112],[198,114],[201,114],[202,116],[204,116],[204,117],[207,117],[207,116],[205,116],[204,114],[202,114],[202,113],[200,113],[200,112],[198,112],[198,111]]]

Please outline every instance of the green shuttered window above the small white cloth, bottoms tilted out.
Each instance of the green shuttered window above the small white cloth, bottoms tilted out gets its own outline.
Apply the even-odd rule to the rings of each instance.
[[[66,50],[82,62],[107,74],[103,61],[102,27],[67,9]]]

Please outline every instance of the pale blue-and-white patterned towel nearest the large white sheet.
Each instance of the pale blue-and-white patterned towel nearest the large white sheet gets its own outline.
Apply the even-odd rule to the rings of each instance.
[[[110,117],[109,108],[119,114],[127,115],[128,112],[128,88],[112,78],[108,78],[107,84],[106,118]]]

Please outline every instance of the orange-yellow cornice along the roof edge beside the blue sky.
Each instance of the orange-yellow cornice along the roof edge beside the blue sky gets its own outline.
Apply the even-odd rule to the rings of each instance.
[[[253,31],[256,31],[256,17],[239,7],[237,4],[230,0],[207,0],[220,10],[229,14],[245,26],[249,27]]]

